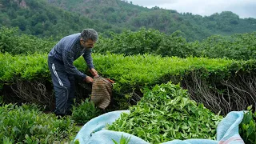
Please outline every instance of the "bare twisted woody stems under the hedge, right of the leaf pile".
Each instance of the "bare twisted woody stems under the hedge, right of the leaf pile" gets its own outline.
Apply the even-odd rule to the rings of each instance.
[[[201,102],[214,113],[228,114],[234,110],[246,110],[256,106],[256,78],[253,74],[241,74],[219,83],[206,83],[196,72],[184,80],[190,98]]]

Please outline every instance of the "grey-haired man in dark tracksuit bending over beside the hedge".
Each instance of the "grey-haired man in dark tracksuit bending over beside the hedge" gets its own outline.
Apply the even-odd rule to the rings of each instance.
[[[48,66],[54,83],[56,115],[71,114],[71,105],[74,101],[74,76],[82,78],[84,82],[93,82],[93,78],[83,74],[74,66],[74,60],[81,55],[85,59],[90,73],[98,76],[94,69],[91,50],[98,40],[95,30],[85,29],[81,33],[62,38],[48,54]]]

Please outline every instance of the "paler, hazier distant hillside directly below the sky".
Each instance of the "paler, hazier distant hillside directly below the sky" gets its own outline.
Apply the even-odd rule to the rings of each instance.
[[[193,41],[202,40],[212,34],[230,35],[256,30],[256,19],[239,18],[230,11],[202,17],[191,13],[179,14],[176,10],[164,10],[157,6],[148,9],[120,0],[47,0],[47,2],[90,19],[106,22],[108,23],[106,28],[111,26],[116,30],[115,32],[119,32],[120,28],[138,30],[142,26],[166,34],[181,30],[187,40]]]

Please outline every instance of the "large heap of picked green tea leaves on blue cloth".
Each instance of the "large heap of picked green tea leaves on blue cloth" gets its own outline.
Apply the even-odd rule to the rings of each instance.
[[[222,116],[188,98],[186,90],[171,82],[145,89],[130,114],[122,114],[108,130],[122,131],[150,143],[174,139],[215,139]]]

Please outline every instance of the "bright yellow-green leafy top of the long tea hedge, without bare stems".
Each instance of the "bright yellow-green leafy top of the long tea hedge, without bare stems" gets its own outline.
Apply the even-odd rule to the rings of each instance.
[[[116,82],[114,91],[130,94],[143,87],[164,82],[184,81],[191,72],[198,71],[199,79],[210,84],[228,80],[239,73],[255,74],[256,61],[234,61],[221,58],[162,58],[151,54],[123,56],[122,54],[93,54],[94,66],[103,77]],[[0,54],[1,87],[17,82],[50,82],[47,54]],[[79,58],[74,62],[78,70],[86,71],[86,62]],[[87,72],[87,71],[86,71]],[[120,96],[120,95],[119,95]],[[124,98],[124,97],[122,97]],[[122,98],[118,101],[122,101]]]

